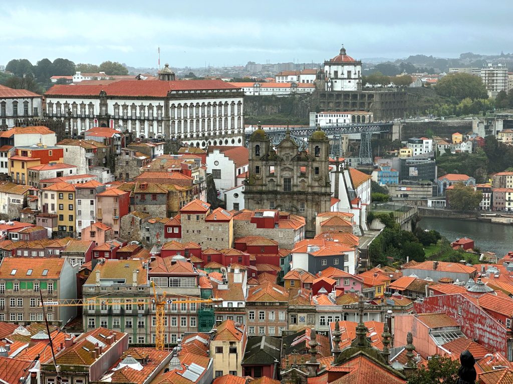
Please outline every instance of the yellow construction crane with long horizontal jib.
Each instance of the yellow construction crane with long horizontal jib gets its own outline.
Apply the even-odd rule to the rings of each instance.
[[[86,307],[86,306],[112,306],[112,305],[155,305],[155,349],[164,350],[164,318],[166,304],[187,304],[187,303],[200,303],[200,304],[213,304],[214,302],[223,301],[223,299],[195,299],[195,300],[166,300],[166,292],[158,295],[155,289],[154,282],[151,282],[153,287],[153,298],[144,299],[141,297],[89,297],[84,299],[61,299],[43,301],[40,307]]]

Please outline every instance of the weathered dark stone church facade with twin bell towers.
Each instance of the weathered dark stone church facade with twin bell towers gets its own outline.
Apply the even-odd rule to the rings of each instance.
[[[306,219],[306,236],[315,235],[315,216],[331,207],[329,139],[317,130],[308,138],[308,151],[289,132],[273,148],[259,127],[248,140],[249,169],[245,180],[247,209],[279,209]]]

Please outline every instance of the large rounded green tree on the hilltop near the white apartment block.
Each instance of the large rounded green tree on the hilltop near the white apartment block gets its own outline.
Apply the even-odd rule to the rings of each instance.
[[[488,98],[481,77],[469,73],[449,73],[439,80],[435,91],[441,96],[456,97],[458,100],[466,97]]]

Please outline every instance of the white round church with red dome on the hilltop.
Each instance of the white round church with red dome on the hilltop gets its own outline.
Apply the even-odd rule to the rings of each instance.
[[[324,62],[326,91],[360,91],[362,89],[362,62],[346,54],[340,54]]]

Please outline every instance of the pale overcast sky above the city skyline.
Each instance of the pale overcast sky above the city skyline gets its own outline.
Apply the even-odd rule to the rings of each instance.
[[[52,4],[53,3],[53,4]],[[0,2],[0,65],[48,57],[134,67],[513,52],[513,2],[195,0]]]

